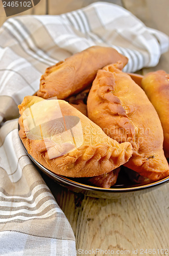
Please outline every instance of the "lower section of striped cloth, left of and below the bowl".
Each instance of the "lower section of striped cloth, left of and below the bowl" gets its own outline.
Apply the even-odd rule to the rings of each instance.
[[[0,255],[76,255],[75,237],[23,150],[18,120],[0,130]]]

